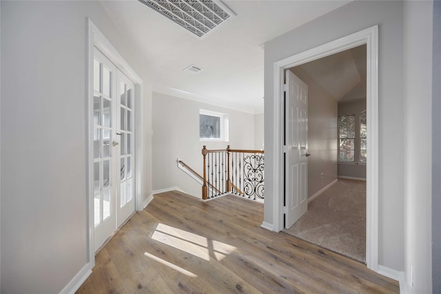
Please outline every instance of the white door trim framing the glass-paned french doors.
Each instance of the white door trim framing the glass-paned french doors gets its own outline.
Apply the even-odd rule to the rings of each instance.
[[[93,210],[93,182],[90,181],[90,171],[92,171],[93,158],[92,158],[92,148],[93,148],[93,118],[92,118],[92,97],[93,97],[93,59],[94,59],[94,47],[98,48],[105,56],[107,56],[116,67],[121,70],[130,80],[133,81],[135,85],[134,89],[134,99],[135,99],[135,154],[136,154],[136,162],[135,162],[135,198],[136,204],[135,209],[141,211],[143,209],[143,174],[142,174],[142,164],[143,164],[143,116],[141,112],[143,109],[143,80],[134,72],[132,67],[123,59],[123,56],[119,54],[119,52],[113,47],[113,45],[107,41],[103,33],[92,23],[92,21],[87,18],[86,19],[86,134],[87,134],[87,145],[86,145],[86,153],[87,153],[87,171],[86,171],[86,181],[87,181],[87,225],[88,225],[88,238],[87,238],[87,246],[88,246],[88,262],[90,264],[90,268],[95,265],[95,253],[94,253],[94,210]]]

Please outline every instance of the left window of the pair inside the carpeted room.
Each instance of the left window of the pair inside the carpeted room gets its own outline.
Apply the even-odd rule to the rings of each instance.
[[[338,160],[355,161],[356,116],[338,117]]]

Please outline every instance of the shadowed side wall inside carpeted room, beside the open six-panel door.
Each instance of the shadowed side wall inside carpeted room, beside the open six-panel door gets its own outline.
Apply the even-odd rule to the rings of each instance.
[[[337,101],[302,67],[290,69],[308,85],[308,197],[337,178]],[[323,178],[321,178],[323,173]]]

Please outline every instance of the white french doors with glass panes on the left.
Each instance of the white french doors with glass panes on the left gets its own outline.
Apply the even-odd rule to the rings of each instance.
[[[134,85],[94,48],[94,251],[134,212]]]

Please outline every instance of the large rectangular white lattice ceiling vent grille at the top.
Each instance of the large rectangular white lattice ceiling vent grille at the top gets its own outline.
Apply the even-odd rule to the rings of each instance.
[[[203,37],[234,17],[217,0],[138,0],[198,37]]]

